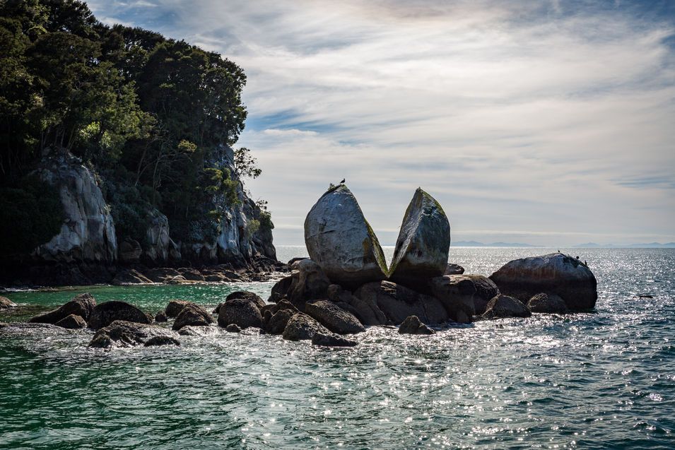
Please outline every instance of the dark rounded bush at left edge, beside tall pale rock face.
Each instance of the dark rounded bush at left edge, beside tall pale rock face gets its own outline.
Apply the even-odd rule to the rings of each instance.
[[[59,192],[37,176],[20,188],[0,188],[0,255],[25,254],[61,230],[64,211]]]

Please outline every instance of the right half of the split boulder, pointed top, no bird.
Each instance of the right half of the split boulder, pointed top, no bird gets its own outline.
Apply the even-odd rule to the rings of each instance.
[[[447,268],[450,223],[432,196],[417,188],[396,241],[389,279],[411,288],[441,276]]]

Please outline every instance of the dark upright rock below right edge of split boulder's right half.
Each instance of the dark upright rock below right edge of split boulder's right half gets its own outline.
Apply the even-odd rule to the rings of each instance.
[[[471,322],[471,317],[476,314],[476,286],[471,280],[445,275],[432,278],[429,286],[433,296],[445,307],[450,319],[460,324]]]

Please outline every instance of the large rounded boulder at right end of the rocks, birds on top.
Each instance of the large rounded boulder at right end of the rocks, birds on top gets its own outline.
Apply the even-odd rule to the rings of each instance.
[[[562,253],[510,261],[490,278],[500,292],[522,302],[539,292],[556,294],[570,311],[593,309],[598,298],[597,280],[588,266]]]

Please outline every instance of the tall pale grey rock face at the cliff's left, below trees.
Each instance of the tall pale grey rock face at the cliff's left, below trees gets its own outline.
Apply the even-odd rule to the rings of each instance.
[[[50,156],[37,172],[59,190],[65,218],[59,234],[37,247],[33,256],[66,263],[116,261],[115,223],[93,173],[70,153]]]

